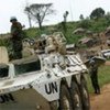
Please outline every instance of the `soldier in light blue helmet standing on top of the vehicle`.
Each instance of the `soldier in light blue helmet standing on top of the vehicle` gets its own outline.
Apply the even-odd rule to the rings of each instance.
[[[24,32],[22,31],[22,25],[20,22],[18,22],[15,16],[12,16],[10,19],[11,25],[11,42],[12,42],[12,50],[13,50],[13,56],[12,58],[18,59],[22,58],[22,38],[24,35]]]

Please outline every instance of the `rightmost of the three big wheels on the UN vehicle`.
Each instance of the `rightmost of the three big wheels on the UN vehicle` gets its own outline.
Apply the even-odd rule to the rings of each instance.
[[[89,94],[88,94],[87,82],[85,79],[81,79],[80,82],[80,95],[82,101],[82,110],[90,110]]]

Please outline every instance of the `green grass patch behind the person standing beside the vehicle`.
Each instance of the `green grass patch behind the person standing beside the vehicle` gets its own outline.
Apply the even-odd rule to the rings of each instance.
[[[99,78],[99,85],[102,87],[106,84],[110,82],[110,66],[100,66],[98,70],[98,78]],[[94,88],[91,86],[90,77],[88,75],[88,88],[89,92],[94,92]]]

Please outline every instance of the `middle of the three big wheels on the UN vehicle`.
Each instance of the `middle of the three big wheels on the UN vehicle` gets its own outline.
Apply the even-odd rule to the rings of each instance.
[[[72,81],[70,86],[70,96],[73,100],[73,109],[74,110],[82,110],[81,98],[78,85],[75,81]]]

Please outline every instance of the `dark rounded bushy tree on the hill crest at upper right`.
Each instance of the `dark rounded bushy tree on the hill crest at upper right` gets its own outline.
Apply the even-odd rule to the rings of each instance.
[[[102,18],[103,15],[105,15],[105,10],[102,8],[97,8],[91,12],[90,19],[99,19]]]

